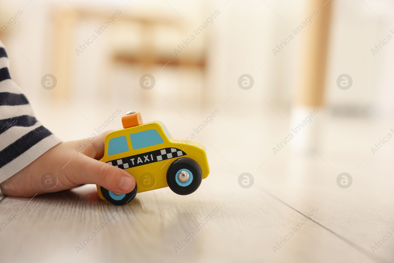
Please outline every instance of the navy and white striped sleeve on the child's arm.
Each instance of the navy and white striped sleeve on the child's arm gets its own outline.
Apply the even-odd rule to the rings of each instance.
[[[0,183],[61,142],[34,117],[8,68],[7,52],[0,41]]]

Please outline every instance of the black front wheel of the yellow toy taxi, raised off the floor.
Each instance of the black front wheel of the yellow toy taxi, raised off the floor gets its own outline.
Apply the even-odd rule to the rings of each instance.
[[[201,168],[190,158],[182,157],[175,160],[167,170],[167,184],[176,194],[191,194],[199,188],[201,181]]]

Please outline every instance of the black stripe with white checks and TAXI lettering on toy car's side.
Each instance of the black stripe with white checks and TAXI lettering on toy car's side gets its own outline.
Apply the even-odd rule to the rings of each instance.
[[[128,157],[124,157],[117,160],[112,160],[107,162],[107,164],[111,164],[112,166],[127,169],[130,167],[141,166],[144,164],[150,164],[152,162],[160,162],[162,160],[168,160],[175,157],[186,155],[186,153],[177,148],[164,148],[155,151],[149,151],[147,153],[140,153],[137,155],[132,155]]]

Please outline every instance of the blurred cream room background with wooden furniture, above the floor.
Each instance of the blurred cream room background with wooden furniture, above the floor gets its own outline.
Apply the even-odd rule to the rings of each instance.
[[[170,122],[181,138],[189,134],[177,134],[175,123],[198,126],[215,108],[229,117],[270,119],[285,133],[299,105],[319,106],[326,118],[392,118],[393,48],[388,43],[371,52],[392,34],[392,1],[320,2],[2,1],[0,25],[23,14],[1,39],[12,78],[63,140],[91,135],[117,108]],[[97,34],[117,10],[114,24]],[[314,10],[320,16],[294,35]],[[212,24],[195,34],[215,11]],[[93,34],[97,39],[78,53]],[[196,38],[177,54],[191,34]],[[275,55],[273,48],[290,34],[295,38]],[[147,73],[156,79],[152,90],[139,86]],[[46,74],[57,78],[54,90],[42,88]],[[250,90],[238,86],[242,74],[253,77]],[[341,74],[353,79],[349,90],[337,87]],[[318,81],[309,85],[313,78]],[[120,118],[108,129],[119,127]]]

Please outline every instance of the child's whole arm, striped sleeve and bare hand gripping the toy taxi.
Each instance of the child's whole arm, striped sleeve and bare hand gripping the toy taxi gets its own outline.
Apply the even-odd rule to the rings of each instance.
[[[76,151],[82,141],[62,143],[35,119],[29,101],[11,80],[8,67],[9,59],[0,41],[0,189],[3,194],[27,197],[86,183],[119,193],[134,189],[135,180],[129,173],[97,160],[104,154],[105,134],[100,134],[83,154]],[[45,173],[56,175],[56,187],[44,187],[41,179]]]

